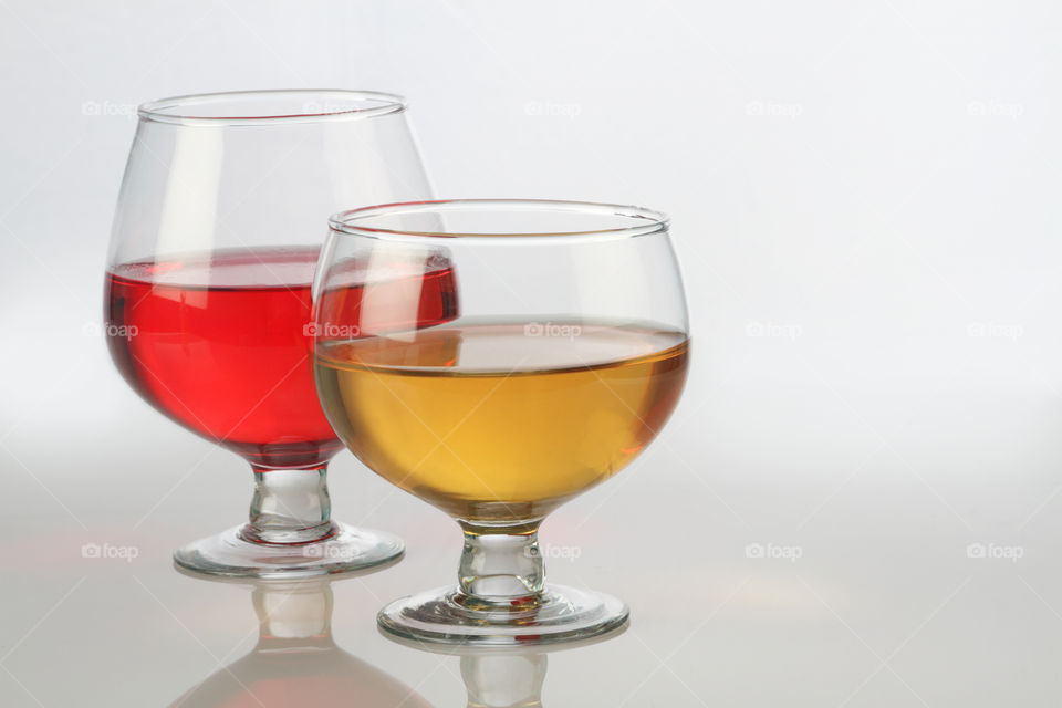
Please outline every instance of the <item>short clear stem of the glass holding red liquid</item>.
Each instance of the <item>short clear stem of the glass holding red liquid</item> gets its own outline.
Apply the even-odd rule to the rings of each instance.
[[[241,530],[254,543],[309,543],[335,532],[329,499],[327,464],[294,469],[251,465],[254,497]]]

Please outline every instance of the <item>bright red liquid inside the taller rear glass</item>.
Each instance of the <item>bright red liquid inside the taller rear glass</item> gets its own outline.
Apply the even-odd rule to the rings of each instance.
[[[217,251],[136,262],[107,274],[107,344],[133,388],[160,412],[263,467],[323,462],[343,446],[313,382],[310,284],[317,249]],[[416,326],[452,320],[454,271],[420,281]],[[363,288],[330,291],[357,324]],[[353,314],[352,314],[353,313]],[[346,334],[344,334],[346,336]]]

